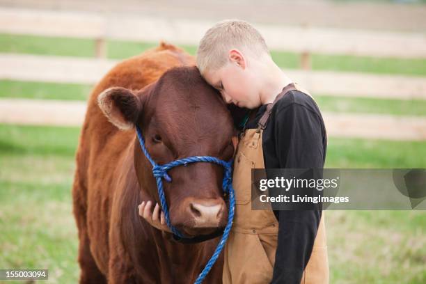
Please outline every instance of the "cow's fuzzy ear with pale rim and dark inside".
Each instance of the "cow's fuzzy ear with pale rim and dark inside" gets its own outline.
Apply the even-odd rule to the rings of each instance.
[[[131,90],[121,87],[104,90],[97,97],[97,104],[108,120],[123,130],[134,127],[142,109],[139,97]]]

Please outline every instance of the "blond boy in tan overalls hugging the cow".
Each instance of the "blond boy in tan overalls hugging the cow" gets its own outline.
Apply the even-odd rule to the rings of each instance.
[[[224,249],[223,283],[328,283],[322,210],[251,210],[251,168],[322,168],[326,130],[312,97],[272,61],[260,33],[241,20],[209,29],[197,65],[228,104],[251,109],[233,171],[235,219]],[[157,205],[141,215],[157,228]],[[163,224],[163,225],[161,225]]]

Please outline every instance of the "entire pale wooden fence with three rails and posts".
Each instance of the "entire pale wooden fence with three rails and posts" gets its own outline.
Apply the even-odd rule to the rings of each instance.
[[[0,8],[0,33],[96,40],[97,58],[0,54],[0,79],[95,84],[116,61],[105,59],[107,39],[197,45],[212,22],[94,13]],[[426,58],[425,33],[340,31],[256,24],[271,49],[297,52],[305,70],[285,70],[314,95],[426,100],[424,77],[319,72],[310,54]],[[81,125],[84,102],[0,100],[0,123]],[[426,110],[425,110],[426,112]],[[324,113],[329,135],[426,140],[426,118]]]

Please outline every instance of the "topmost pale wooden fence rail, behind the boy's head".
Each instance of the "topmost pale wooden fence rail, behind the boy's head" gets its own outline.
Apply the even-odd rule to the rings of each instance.
[[[134,15],[0,8],[0,32],[96,40],[104,56],[107,39],[198,45],[214,22]],[[256,24],[271,49],[296,52],[309,68],[310,54],[426,58],[426,33],[319,29]]]

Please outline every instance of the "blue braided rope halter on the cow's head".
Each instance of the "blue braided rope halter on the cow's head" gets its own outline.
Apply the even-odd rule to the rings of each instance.
[[[141,144],[141,148],[143,153],[145,154],[145,157],[147,157],[148,161],[150,161],[152,165],[152,173],[154,174],[155,179],[157,180],[157,191],[161,203],[161,209],[164,212],[164,217],[166,219],[166,223],[168,228],[171,229],[173,234],[178,235],[179,237],[185,238],[184,235],[182,235],[178,229],[176,229],[170,221],[170,216],[168,214],[168,207],[166,203],[166,196],[164,196],[164,189],[163,189],[163,181],[162,179],[166,180],[167,182],[171,182],[170,176],[167,174],[167,171],[171,168],[174,168],[175,166],[187,166],[187,164],[195,163],[197,161],[207,161],[214,164],[219,164],[223,166],[224,168],[224,175],[223,175],[223,182],[222,182],[222,189],[223,192],[229,195],[229,210],[228,210],[228,223],[226,223],[225,230],[223,230],[223,235],[221,237],[221,240],[214,250],[214,253],[210,260],[207,262],[207,265],[205,265],[203,271],[198,275],[198,278],[196,280],[196,284],[199,284],[203,282],[205,276],[209,273],[210,269],[212,269],[212,266],[214,265],[214,262],[216,262],[217,258],[219,257],[219,254],[221,253],[223,246],[226,244],[226,240],[228,239],[230,228],[232,227],[232,220],[234,219],[234,210],[235,210],[235,195],[234,195],[234,189],[232,188],[232,159],[230,161],[222,161],[221,159],[217,159],[216,157],[210,157],[210,156],[193,156],[193,157],[187,157],[183,159],[178,159],[175,161],[171,161],[168,164],[159,165],[155,163],[155,161],[150,157],[148,150],[145,148],[145,141],[143,140],[141,129],[136,125],[136,133],[138,135],[139,143]]]

